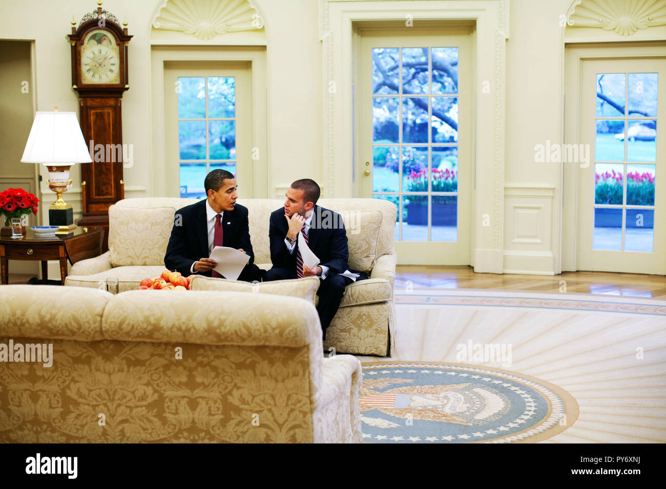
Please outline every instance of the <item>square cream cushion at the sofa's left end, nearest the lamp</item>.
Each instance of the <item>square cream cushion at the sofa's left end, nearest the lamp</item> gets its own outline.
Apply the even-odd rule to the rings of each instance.
[[[173,227],[172,207],[109,208],[111,265],[162,265]],[[146,277],[144,277],[146,278]]]

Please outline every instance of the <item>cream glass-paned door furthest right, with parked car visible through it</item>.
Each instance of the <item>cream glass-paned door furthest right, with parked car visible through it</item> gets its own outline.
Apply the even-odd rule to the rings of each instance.
[[[579,168],[577,268],[665,274],[666,60],[584,60],[581,74],[591,151]]]

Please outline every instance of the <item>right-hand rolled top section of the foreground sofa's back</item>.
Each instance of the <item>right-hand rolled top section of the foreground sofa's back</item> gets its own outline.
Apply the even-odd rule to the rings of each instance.
[[[165,301],[168,295],[168,301]],[[105,339],[199,345],[314,345],[321,355],[317,311],[305,299],[246,292],[133,290],[104,311]]]

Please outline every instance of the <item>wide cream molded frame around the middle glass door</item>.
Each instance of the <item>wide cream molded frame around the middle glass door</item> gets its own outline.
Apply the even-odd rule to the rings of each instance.
[[[475,21],[474,144],[471,261],[476,272],[503,271],[505,64],[509,39],[509,0],[432,2],[378,0],[320,0],[320,41],[324,63],[324,190],[327,196],[352,197],[353,137],[353,23],[357,21],[456,20]],[[332,85],[331,82],[334,82]],[[490,82],[486,96],[481,84]],[[331,89],[332,86],[334,89]],[[491,144],[482,144],[492,141]],[[351,164],[350,164],[351,163]],[[490,178],[476,178],[487,175]],[[488,215],[489,220],[484,219]],[[490,226],[482,226],[490,221]]]

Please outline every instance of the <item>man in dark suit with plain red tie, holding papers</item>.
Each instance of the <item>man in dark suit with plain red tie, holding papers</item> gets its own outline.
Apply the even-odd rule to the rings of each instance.
[[[204,188],[206,199],[186,206],[174,215],[166,246],[166,268],[185,276],[200,273],[222,277],[213,270],[217,262],[208,256],[214,246],[227,246],[250,256],[238,280],[260,280],[262,271],[254,265],[248,210],[236,204],[236,178],[226,170],[212,170],[204,180]]]

